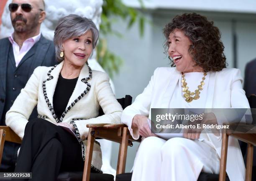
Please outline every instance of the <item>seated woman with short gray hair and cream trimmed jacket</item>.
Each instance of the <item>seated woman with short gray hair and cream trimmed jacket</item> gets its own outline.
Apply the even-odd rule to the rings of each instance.
[[[33,172],[33,181],[55,181],[60,171],[82,171],[89,123],[119,123],[122,107],[107,74],[87,60],[98,40],[92,22],[78,15],[59,20],[54,32],[54,67],[37,67],[6,114],[6,125],[23,139],[15,172]],[[38,118],[28,122],[37,105]],[[105,115],[98,116],[102,108]],[[92,172],[101,173],[95,143]],[[26,179],[25,179],[26,180]]]

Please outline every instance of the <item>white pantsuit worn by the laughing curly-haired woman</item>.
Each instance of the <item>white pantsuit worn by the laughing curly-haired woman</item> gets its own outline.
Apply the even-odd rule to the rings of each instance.
[[[208,72],[206,78],[202,97],[192,101],[193,104],[201,102],[201,106],[193,108],[249,108],[238,69]],[[182,90],[179,90],[180,79],[181,73],[176,68],[157,68],[143,93],[123,111],[121,121],[128,125],[134,139],[139,137],[138,130],[131,127],[135,115],[150,118],[151,108],[187,108],[186,104],[189,103],[184,98],[177,98],[178,94],[182,95]],[[200,81],[195,79],[195,84],[200,84]],[[192,84],[191,81],[187,83]],[[174,102],[177,105],[173,105]],[[132,181],[196,181],[201,171],[218,173],[221,143],[221,135],[211,133],[201,134],[199,140],[146,138],[136,154]],[[226,172],[230,181],[245,179],[238,140],[232,137],[228,142]]]

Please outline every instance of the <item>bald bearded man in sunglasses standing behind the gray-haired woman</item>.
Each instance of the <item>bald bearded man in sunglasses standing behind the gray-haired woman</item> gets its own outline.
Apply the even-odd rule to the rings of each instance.
[[[0,125],[5,125],[6,112],[33,70],[37,66],[57,64],[53,42],[40,32],[46,17],[44,0],[13,0],[9,10],[14,32],[0,39]],[[36,109],[30,119],[34,117],[37,117]],[[14,170],[19,147],[16,143],[5,143],[0,171]]]

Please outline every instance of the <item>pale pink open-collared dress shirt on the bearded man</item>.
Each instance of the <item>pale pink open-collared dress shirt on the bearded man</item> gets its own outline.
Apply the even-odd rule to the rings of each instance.
[[[20,63],[21,59],[26,55],[26,53],[28,53],[30,48],[32,48],[32,46],[36,42],[39,41],[40,37],[41,37],[41,33],[39,33],[38,35],[36,35],[36,36],[34,36],[32,38],[26,39],[26,41],[23,42],[23,45],[20,48],[20,46],[13,40],[13,34],[11,34],[9,36],[9,40],[10,40],[10,42],[13,45],[13,55],[14,55],[16,67]]]

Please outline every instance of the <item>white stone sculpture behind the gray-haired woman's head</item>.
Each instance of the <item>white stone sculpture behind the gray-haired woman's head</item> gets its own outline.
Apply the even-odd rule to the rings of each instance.
[[[2,15],[2,24],[0,26],[0,38],[9,36],[13,32],[13,26],[10,21],[10,11],[8,5],[12,0],[8,0]],[[100,28],[100,15],[102,13],[103,0],[44,0],[46,4],[46,19],[41,25],[41,33],[45,38],[53,40],[54,29],[58,20],[69,14],[77,14],[82,17],[90,18],[97,28]],[[90,67],[94,70],[104,71],[100,64],[96,61],[96,52],[88,60]],[[104,71],[105,72],[105,71]],[[113,92],[115,92],[113,82],[110,80]],[[102,149],[102,171],[115,176],[115,169],[110,166],[110,158],[112,151],[112,142],[108,140],[98,140]]]

